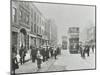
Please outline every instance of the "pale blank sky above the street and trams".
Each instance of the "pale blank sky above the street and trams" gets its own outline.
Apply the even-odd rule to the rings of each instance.
[[[59,43],[61,43],[63,35],[68,36],[69,27],[79,27],[83,38],[84,29],[95,25],[95,7],[93,6],[34,4],[46,18],[55,21],[58,28]]]

